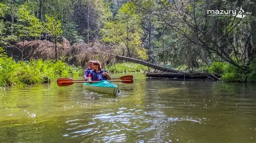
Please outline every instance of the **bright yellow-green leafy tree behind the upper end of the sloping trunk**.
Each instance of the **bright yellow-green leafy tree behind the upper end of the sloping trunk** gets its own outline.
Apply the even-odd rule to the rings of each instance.
[[[103,41],[124,45],[129,57],[136,55],[144,60],[147,59],[146,49],[142,47],[143,29],[140,26],[141,19],[136,12],[136,6],[132,2],[123,4],[116,18],[107,22],[102,28]]]

